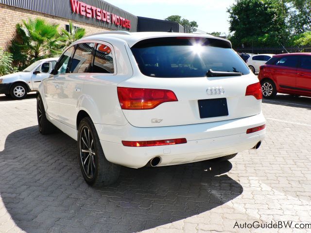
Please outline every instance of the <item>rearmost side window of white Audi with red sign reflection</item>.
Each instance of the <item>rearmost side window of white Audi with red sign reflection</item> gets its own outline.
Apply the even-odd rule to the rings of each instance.
[[[95,49],[95,58],[93,73],[114,73],[113,57],[111,48],[107,45],[97,44]]]

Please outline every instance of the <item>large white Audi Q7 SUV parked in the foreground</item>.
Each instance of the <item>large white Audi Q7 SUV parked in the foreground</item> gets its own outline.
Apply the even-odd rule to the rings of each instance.
[[[261,86],[228,40],[105,32],[74,42],[37,95],[39,131],[78,141],[86,183],[121,166],[229,159],[265,136]]]

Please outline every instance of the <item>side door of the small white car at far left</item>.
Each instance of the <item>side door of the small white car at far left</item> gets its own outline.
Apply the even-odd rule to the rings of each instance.
[[[32,74],[33,90],[37,90],[43,79],[48,78],[56,61],[49,61],[41,63]]]

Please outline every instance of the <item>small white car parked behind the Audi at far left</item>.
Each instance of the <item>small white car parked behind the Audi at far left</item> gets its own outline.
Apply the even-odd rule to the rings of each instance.
[[[27,93],[38,89],[41,81],[50,76],[59,58],[47,58],[36,61],[21,72],[0,77],[0,94],[13,99],[26,98]]]

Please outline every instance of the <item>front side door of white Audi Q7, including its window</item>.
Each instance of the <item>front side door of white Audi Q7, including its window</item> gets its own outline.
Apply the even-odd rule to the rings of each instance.
[[[47,102],[46,113],[52,118],[59,120],[61,111],[59,108],[59,83],[65,77],[65,74],[69,72],[69,65],[72,60],[74,47],[70,47],[61,56],[56,63],[50,77],[46,80],[44,85],[45,99]]]

